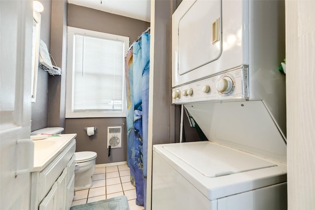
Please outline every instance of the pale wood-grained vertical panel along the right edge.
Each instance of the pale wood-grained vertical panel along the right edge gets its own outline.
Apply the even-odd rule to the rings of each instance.
[[[314,0],[285,1],[289,210],[315,210],[314,11]]]

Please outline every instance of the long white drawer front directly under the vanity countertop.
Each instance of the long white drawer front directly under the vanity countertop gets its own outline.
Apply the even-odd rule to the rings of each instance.
[[[66,168],[70,158],[75,152],[75,140],[72,140],[69,145],[44,169],[39,173],[39,184],[41,184],[38,194],[39,200],[43,199],[53,183],[61,175]]]

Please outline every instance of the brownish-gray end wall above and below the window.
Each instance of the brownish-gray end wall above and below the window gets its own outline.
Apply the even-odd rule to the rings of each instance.
[[[137,39],[150,23],[114,15],[99,10],[68,4],[68,26],[128,36],[130,44]],[[126,161],[126,118],[80,118],[66,119],[65,133],[77,133],[76,151],[95,151],[96,164]],[[84,127],[97,126],[98,131],[89,137]],[[107,127],[122,126],[122,148],[107,151]]]

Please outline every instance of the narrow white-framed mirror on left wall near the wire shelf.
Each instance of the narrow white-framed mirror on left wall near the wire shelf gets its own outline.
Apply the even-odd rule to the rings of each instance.
[[[32,102],[36,100],[38,54],[39,54],[39,36],[40,36],[40,13],[33,10],[32,26]]]

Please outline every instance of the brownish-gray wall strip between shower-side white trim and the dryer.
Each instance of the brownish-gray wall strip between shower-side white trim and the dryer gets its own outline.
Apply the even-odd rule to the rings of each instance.
[[[171,3],[170,0],[155,1],[154,63],[150,71],[153,73],[153,84],[150,84],[150,89],[153,88],[152,145],[173,143],[176,135],[175,105],[171,104]]]

